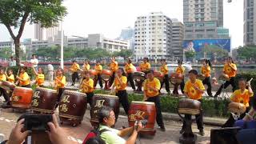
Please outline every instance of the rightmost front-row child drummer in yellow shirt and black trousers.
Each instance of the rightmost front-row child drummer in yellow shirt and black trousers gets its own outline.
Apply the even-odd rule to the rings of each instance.
[[[235,90],[232,96],[230,97],[231,102],[239,102],[246,106],[246,112],[241,114],[238,119],[242,119],[246,116],[246,113],[249,111],[249,102],[250,98],[253,98],[254,92],[251,89],[250,82],[246,83],[245,79],[239,79],[238,81],[239,89]],[[248,89],[246,89],[246,86]],[[234,126],[234,117],[230,114],[230,118],[226,121],[226,123],[222,127],[232,127]]]

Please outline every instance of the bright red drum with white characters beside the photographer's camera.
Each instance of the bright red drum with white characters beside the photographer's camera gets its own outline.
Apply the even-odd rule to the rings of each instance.
[[[146,119],[147,124],[140,133],[154,135],[156,132],[156,130],[154,130],[155,118],[156,109],[154,102],[131,102],[128,118],[129,126],[134,126],[134,122],[137,120]]]

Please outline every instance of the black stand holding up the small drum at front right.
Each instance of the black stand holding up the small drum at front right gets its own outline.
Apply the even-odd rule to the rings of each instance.
[[[193,133],[192,131],[192,122],[194,122],[197,118],[194,119],[186,119],[185,117],[182,117],[181,114],[178,112],[178,116],[182,118],[183,122],[186,122],[186,128],[182,136],[179,138],[179,142],[182,144],[195,144],[197,141],[197,135]]]

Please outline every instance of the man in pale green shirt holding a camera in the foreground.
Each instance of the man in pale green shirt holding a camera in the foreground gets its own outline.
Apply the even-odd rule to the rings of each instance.
[[[105,132],[102,132],[101,138],[103,141],[106,142],[106,144],[131,144],[135,143],[138,131],[142,130],[142,123],[139,122],[138,125],[135,124],[133,127],[129,127],[123,130],[115,130],[112,129],[111,126],[114,126],[115,123],[115,115],[114,111],[108,107],[103,106],[102,110],[100,110],[98,114],[98,121],[100,123],[99,130],[106,130]],[[130,135],[131,134],[131,135]],[[124,138],[127,135],[130,135],[130,138],[126,141]]]

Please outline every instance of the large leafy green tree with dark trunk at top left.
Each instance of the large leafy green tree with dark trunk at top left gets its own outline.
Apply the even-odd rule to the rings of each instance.
[[[0,23],[6,26],[14,39],[17,65],[20,64],[20,38],[26,22],[40,23],[43,27],[56,25],[67,14],[62,0],[1,0]],[[18,34],[14,35],[14,29]]]

